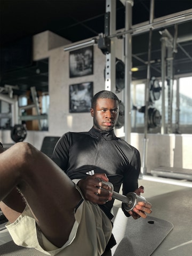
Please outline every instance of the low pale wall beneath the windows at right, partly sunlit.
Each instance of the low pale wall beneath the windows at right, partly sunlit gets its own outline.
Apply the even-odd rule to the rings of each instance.
[[[147,172],[158,166],[192,169],[192,134],[148,134],[147,138]],[[142,160],[143,134],[132,133],[131,145],[138,148]]]

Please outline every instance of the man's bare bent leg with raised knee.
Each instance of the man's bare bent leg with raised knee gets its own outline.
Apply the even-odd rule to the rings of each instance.
[[[10,209],[11,193],[15,195],[13,189],[19,188],[47,239],[58,247],[66,243],[81,195],[49,157],[28,143],[19,142],[0,154],[0,180],[0,201]],[[21,203],[21,197],[18,199]],[[23,206],[21,204],[17,212]],[[8,219],[9,215],[6,211]]]

